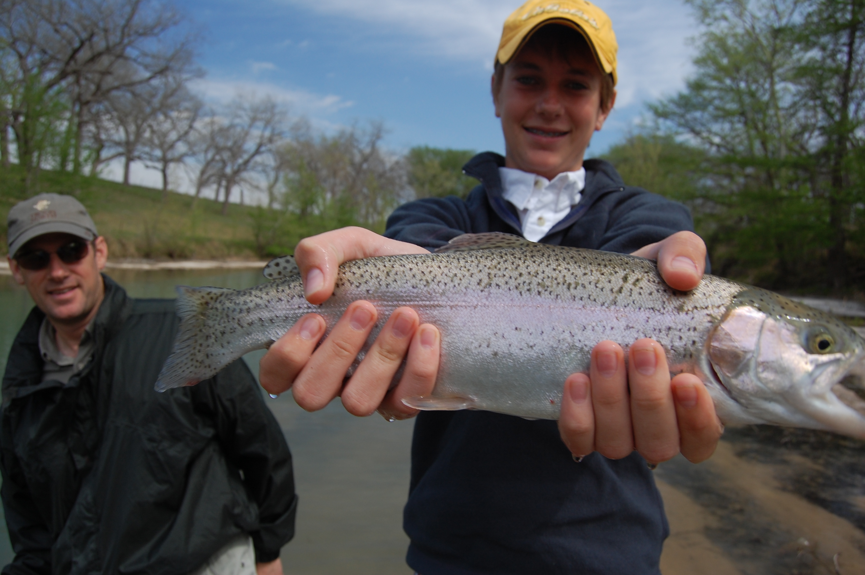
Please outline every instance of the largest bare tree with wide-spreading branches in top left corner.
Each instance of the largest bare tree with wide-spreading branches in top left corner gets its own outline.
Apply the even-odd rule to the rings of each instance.
[[[181,22],[170,4],[155,0],[3,0],[0,38],[16,65],[19,92],[30,94],[12,115],[22,124],[37,121],[42,95],[62,89],[70,101],[73,169],[80,171],[93,105],[191,65],[193,37],[178,33]],[[17,144],[21,163],[32,167],[37,150],[26,139]]]

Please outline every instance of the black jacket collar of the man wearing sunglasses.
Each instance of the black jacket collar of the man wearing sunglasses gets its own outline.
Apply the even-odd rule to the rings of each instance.
[[[80,374],[75,374],[68,381],[67,387],[76,387],[80,379],[93,369],[93,365],[101,358],[106,343],[117,334],[131,310],[132,300],[126,295],[126,291],[105,274],[102,274],[102,280],[106,293],[93,319],[93,360]],[[64,387],[60,381],[42,381],[44,362],[39,353],[39,329],[44,318],[42,310],[34,307],[12,343],[10,361],[3,375],[4,408],[12,399],[50,387]]]

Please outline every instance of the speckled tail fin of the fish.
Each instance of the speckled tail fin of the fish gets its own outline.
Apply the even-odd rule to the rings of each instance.
[[[227,292],[227,288],[192,288],[177,286],[177,316],[180,327],[174,340],[171,355],[165,360],[157,378],[156,390],[163,392],[171,387],[194,386],[201,380],[215,375],[222,366],[208,361],[206,344],[207,310]]]

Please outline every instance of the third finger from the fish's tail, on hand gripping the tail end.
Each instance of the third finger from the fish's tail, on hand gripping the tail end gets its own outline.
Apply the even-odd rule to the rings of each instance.
[[[418,323],[415,310],[394,310],[340,393],[346,411],[362,417],[375,412],[406,356]]]

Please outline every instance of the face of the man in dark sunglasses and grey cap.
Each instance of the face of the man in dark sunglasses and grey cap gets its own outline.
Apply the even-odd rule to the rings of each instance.
[[[46,233],[22,246],[19,254],[35,250],[51,253],[48,267],[42,270],[25,270],[15,259],[9,260],[12,275],[27,288],[39,309],[53,323],[70,325],[89,322],[102,303],[105,288],[99,272],[108,259],[106,240],[100,236],[92,245],[88,242],[84,258],[64,264],[56,252],[71,240],[80,238],[69,233]]]

